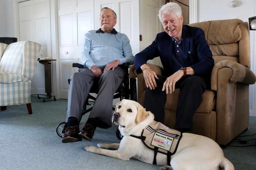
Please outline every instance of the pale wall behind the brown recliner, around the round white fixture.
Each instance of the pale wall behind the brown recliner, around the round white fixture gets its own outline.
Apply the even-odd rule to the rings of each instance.
[[[256,16],[255,0],[240,0],[237,7],[230,6],[231,0],[198,0],[198,21],[220,20],[238,18],[248,22],[248,18]],[[255,73],[255,42],[256,31],[250,31],[250,49],[251,49],[251,70]],[[255,85],[250,85],[250,116],[256,116],[254,110]]]

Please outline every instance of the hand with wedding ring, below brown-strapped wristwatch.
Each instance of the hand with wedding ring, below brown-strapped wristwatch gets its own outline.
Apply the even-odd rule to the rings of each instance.
[[[175,83],[181,79],[181,77],[184,75],[182,70],[178,70],[174,74],[172,74],[170,77],[166,79],[166,81],[163,83],[163,89],[162,91],[166,91],[166,94],[170,91],[170,94],[174,92],[175,90]]]

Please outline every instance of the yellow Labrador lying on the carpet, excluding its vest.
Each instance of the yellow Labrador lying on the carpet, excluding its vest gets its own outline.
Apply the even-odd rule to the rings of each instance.
[[[112,122],[119,125],[123,135],[120,144],[99,143],[98,148],[86,146],[85,150],[122,160],[135,158],[152,164],[154,151],[147,148],[141,139],[130,136],[140,136],[142,130],[152,121],[154,115],[151,112],[146,112],[135,101],[124,99],[117,103],[112,117]],[[215,141],[192,133],[183,133],[175,154],[171,156],[171,166],[167,166],[166,155],[162,153],[157,154],[156,162],[163,165],[160,168],[163,170],[234,170],[233,164],[224,157],[222,149]]]

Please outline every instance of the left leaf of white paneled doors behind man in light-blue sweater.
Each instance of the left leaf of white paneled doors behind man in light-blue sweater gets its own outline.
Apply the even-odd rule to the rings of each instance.
[[[68,98],[68,79],[77,72],[73,62],[81,63],[84,34],[94,29],[93,0],[58,0],[60,45],[60,98]]]

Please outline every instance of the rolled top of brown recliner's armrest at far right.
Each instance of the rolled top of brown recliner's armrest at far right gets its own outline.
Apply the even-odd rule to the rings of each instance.
[[[245,84],[254,84],[256,81],[255,74],[247,67],[231,60],[223,60],[214,65],[211,75],[211,89],[217,91],[217,73],[222,68],[230,68],[233,75],[230,81],[233,83],[240,82]]]

